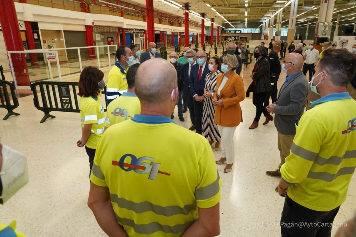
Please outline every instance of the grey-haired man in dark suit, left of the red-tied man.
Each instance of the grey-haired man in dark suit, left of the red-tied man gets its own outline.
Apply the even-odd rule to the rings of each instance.
[[[195,114],[194,114],[194,102],[193,102],[193,95],[192,92],[190,92],[189,89],[189,75],[190,71],[192,69],[192,66],[196,64],[197,62],[195,61],[195,51],[192,49],[187,50],[186,52],[186,57],[188,60],[188,63],[183,64],[182,68],[180,70],[180,77],[183,80],[183,101],[187,103],[187,107],[189,109],[189,114],[190,114],[190,121],[192,122],[192,126],[189,128],[189,130],[194,131],[195,130]]]

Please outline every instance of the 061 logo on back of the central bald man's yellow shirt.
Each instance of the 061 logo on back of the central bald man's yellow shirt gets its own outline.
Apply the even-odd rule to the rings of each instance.
[[[128,160],[131,160],[130,163],[127,163]],[[151,161],[151,163],[149,164],[149,163],[143,162],[143,161]],[[152,161],[153,161],[152,157],[143,156],[143,157],[137,158],[134,155],[126,154],[120,158],[120,161],[112,161],[112,165],[119,166],[122,170],[124,170],[126,172],[133,170],[139,174],[150,173],[150,176],[148,176],[148,179],[152,179],[152,180],[156,180],[157,174],[165,174],[167,176],[171,175],[170,173],[162,172],[159,170],[161,163],[154,163]]]

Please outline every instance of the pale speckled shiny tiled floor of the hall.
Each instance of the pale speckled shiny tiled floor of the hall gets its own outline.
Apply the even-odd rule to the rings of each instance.
[[[246,87],[251,70],[250,65],[243,71]],[[105,78],[107,74],[108,70]],[[282,72],[279,87],[284,79]],[[15,112],[21,115],[0,122],[1,142],[26,154],[30,172],[30,183],[1,206],[0,222],[17,220],[17,228],[29,237],[105,236],[87,206],[89,162],[84,148],[75,146],[81,136],[79,114],[52,112],[56,118],[40,124],[43,112],[35,109],[32,99],[20,98]],[[280,236],[278,221],[284,198],[274,191],[279,179],[265,174],[279,163],[277,131],[273,123],[260,123],[255,130],[248,130],[255,116],[252,99],[246,98],[241,107],[244,123],[235,132],[233,171],[224,174],[224,165],[218,165],[223,181],[220,236]],[[185,122],[180,122],[176,108],[174,120],[189,128],[188,113],[184,114]],[[6,110],[0,109],[0,118],[5,114]],[[216,160],[220,154],[221,150],[214,152]],[[334,223],[345,222],[355,214],[355,179]],[[333,228],[333,235],[336,230]]]

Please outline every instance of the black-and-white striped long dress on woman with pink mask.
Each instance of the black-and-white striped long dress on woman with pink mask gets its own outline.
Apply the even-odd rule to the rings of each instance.
[[[205,78],[205,88],[204,90],[208,92],[215,93],[216,78],[221,72],[218,70],[211,77],[211,73],[206,75]],[[205,98],[203,105],[203,119],[201,132],[202,135],[208,139],[208,141],[221,141],[221,136],[219,134],[218,125],[214,123],[215,106],[213,105],[213,97]]]

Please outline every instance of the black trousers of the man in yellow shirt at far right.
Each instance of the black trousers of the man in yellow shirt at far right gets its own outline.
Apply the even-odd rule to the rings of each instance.
[[[282,237],[330,237],[339,208],[340,206],[331,211],[314,211],[299,205],[286,195],[281,217]]]

